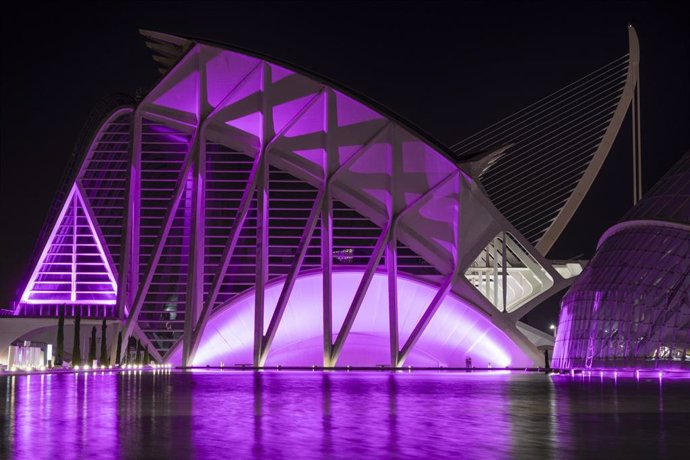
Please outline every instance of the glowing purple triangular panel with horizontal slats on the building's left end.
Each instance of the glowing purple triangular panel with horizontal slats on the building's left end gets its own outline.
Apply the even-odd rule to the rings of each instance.
[[[114,305],[116,295],[117,284],[104,246],[74,184],[21,302]]]

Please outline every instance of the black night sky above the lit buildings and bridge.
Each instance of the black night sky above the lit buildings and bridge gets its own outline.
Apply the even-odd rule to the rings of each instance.
[[[0,307],[28,269],[91,108],[158,78],[139,28],[294,62],[453,144],[627,52],[631,23],[641,43],[645,189],[690,148],[690,21],[670,3],[24,4],[2,15]],[[590,257],[629,208],[629,131],[619,138],[551,256]],[[553,304],[533,324],[555,320]]]

